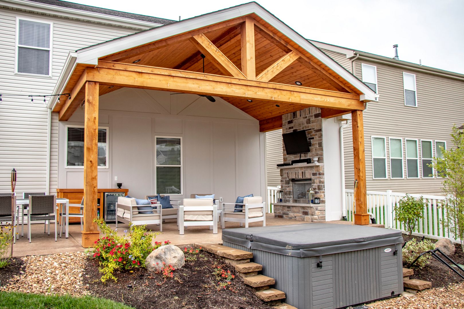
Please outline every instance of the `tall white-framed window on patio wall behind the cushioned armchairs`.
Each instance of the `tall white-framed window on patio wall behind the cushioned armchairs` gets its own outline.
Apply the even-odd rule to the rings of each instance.
[[[182,138],[156,137],[156,193],[182,194]]]

